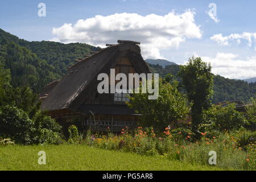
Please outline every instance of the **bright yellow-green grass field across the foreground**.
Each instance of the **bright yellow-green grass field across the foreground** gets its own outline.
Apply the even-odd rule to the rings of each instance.
[[[46,152],[46,165],[38,152]],[[0,170],[219,170],[163,157],[140,156],[77,144],[59,146],[0,146]]]

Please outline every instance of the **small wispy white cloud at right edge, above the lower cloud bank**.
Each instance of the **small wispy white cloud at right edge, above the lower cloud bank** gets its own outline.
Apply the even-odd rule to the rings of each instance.
[[[223,36],[222,34],[215,34],[211,38],[218,44],[222,46],[228,46],[230,43],[236,42],[237,44],[241,43],[241,40],[247,42],[247,46],[251,47],[254,44],[256,45],[256,33],[243,32],[242,34],[230,34],[229,36]],[[256,48],[256,47],[255,47]]]

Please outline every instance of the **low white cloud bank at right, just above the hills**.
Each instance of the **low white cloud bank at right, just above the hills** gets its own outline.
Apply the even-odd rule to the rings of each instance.
[[[212,65],[212,72],[226,78],[252,78],[256,77],[256,56],[240,59],[233,53],[219,52],[214,57],[201,56]]]

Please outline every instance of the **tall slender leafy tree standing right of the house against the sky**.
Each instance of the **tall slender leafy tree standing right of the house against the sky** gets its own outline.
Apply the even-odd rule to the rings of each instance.
[[[188,100],[192,102],[192,131],[196,133],[202,122],[203,110],[208,109],[213,96],[212,67],[201,60],[192,57],[187,65],[181,65],[179,75],[182,78]]]

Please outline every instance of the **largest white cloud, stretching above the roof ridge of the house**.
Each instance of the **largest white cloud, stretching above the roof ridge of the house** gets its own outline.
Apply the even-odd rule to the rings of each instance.
[[[160,16],[150,14],[96,15],[80,19],[75,24],[65,23],[53,28],[52,33],[62,43],[80,42],[105,47],[106,43],[116,43],[118,39],[141,42],[142,55],[146,58],[163,58],[160,50],[179,48],[186,39],[200,39],[200,26],[191,10],[183,14],[171,12]]]

